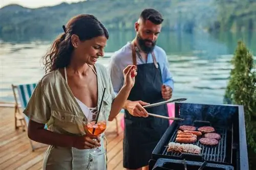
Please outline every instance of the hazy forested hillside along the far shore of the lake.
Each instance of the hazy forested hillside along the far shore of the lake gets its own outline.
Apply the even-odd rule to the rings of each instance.
[[[163,29],[193,32],[195,29],[256,30],[256,1],[103,1],[62,3],[37,9],[9,5],[0,9],[1,35],[45,35],[62,32],[62,25],[77,14],[93,14],[109,30],[133,29],[144,8],[164,16]],[[228,10],[227,10],[228,9]]]

